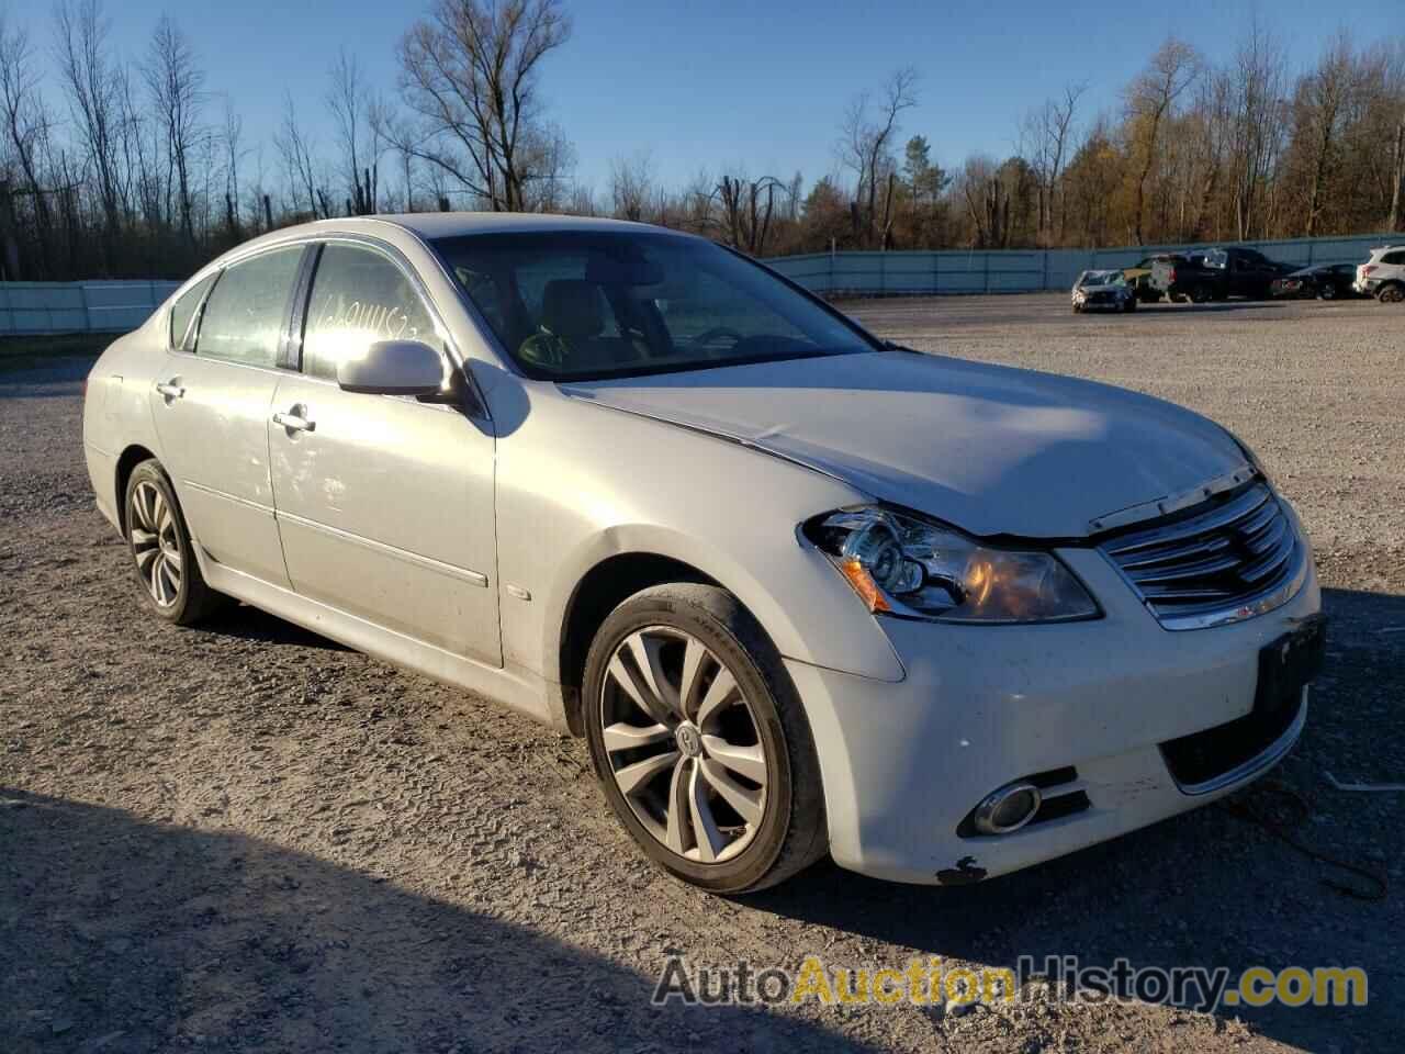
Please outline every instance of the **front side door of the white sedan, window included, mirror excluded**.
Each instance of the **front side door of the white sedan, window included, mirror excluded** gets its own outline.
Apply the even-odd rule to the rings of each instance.
[[[392,337],[443,350],[400,264],[365,245],[326,245],[302,371],[281,378],[267,424],[288,575],[312,600],[500,666],[488,424],[454,405],[336,384],[341,357]]]

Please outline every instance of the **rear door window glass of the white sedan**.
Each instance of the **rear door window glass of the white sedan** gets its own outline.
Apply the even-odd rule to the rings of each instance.
[[[292,246],[226,268],[205,304],[195,354],[278,365],[278,334],[301,259],[302,246]]]

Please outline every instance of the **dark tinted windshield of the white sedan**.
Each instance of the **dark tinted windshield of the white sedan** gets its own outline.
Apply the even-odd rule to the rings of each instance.
[[[468,235],[434,249],[530,377],[582,381],[874,351],[854,327],[710,242]]]

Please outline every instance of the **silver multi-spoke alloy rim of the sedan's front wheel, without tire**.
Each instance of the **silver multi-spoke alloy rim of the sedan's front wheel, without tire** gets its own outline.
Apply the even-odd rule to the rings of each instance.
[[[766,815],[770,773],[726,663],[683,630],[648,627],[615,646],[601,696],[610,772],[639,824],[687,860],[742,853]]]

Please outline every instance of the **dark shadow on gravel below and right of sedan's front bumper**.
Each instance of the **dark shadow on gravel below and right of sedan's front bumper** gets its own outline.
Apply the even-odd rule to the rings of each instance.
[[[1100,967],[1121,957],[1132,968],[1224,965],[1238,978],[1253,965],[1360,965],[1364,1008],[1221,1006],[1217,1016],[1305,1050],[1373,1050],[1405,1036],[1401,894],[1345,895],[1332,884],[1380,887],[1283,840],[1387,881],[1405,864],[1405,794],[1339,791],[1325,776],[1405,777],[1405,597],[1326,589],[1324,609],[1328,665],[1307,732],[1280,769],[1224,802],[976,885],[895,885],[825,863],[746,904],[861,943],[995,967],[1014,968],[1021,956]]]

